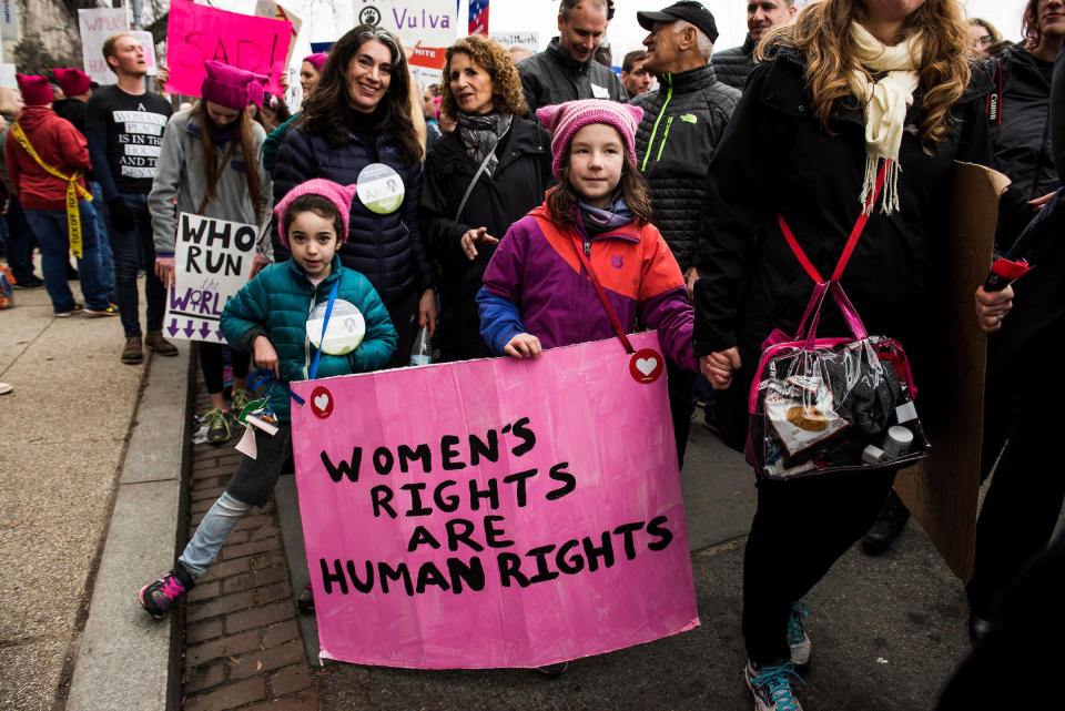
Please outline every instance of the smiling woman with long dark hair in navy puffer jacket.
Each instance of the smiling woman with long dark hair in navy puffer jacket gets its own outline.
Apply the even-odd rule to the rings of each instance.
[[[423,144],[410,95],[395,35],[356,27],[329,50],[274,169],[276,202],[312,177],[361,186],[337,254],[366,275],[388,308],[398,334],[392,365],[406,365],[419,327],[430,335],[436,328],[435,272],[418,224]],[[277,261],[288,256],[276,235],[274,251]]]

